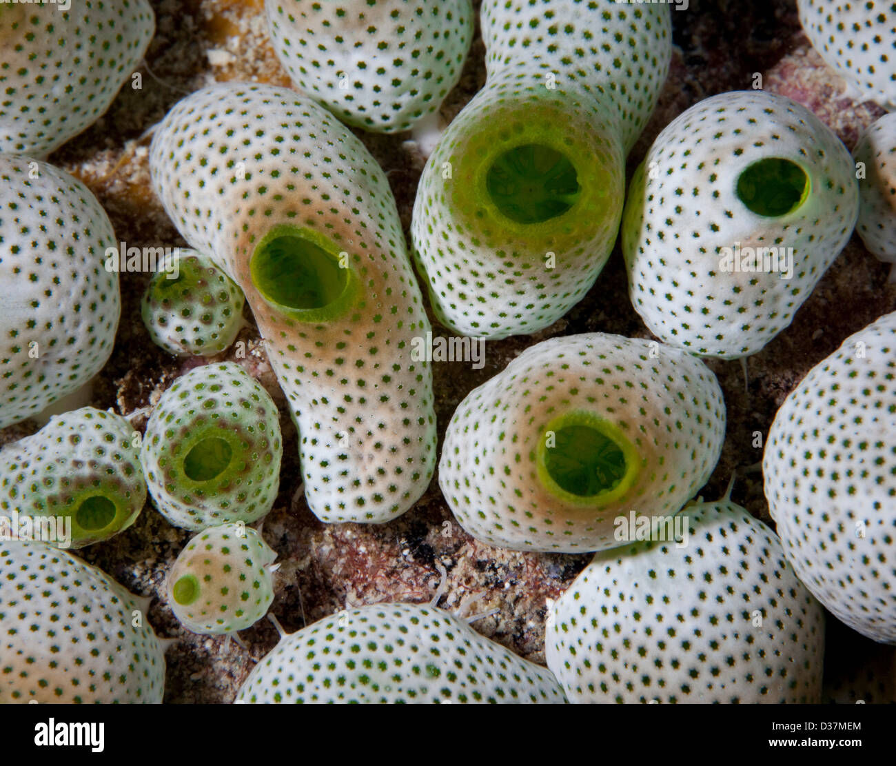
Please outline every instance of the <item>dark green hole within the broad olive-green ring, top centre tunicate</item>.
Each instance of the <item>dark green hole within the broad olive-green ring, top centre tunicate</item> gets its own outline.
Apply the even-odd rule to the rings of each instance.
[[[573,163],[538,143],[504,151],[486,176],[492,202],[517,223],[541,223],[568,211],[582,189]]]

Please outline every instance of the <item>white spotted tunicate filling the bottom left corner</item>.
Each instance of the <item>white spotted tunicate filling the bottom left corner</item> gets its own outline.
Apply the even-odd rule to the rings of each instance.
[[[0,703],[162,701],[148,599],[39,542],[0,542],[0,581]]]

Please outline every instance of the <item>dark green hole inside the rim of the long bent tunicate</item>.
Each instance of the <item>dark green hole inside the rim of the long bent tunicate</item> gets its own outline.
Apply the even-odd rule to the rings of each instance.
[[[254,285],[263,297],[288,308],[329,306],[346,288],[349,270],[302,237],[273,237],[252,260]]]

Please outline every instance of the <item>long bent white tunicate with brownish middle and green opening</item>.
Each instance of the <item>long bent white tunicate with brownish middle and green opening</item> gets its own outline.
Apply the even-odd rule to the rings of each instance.
[[[432,371],[412,354],[430,325],[364,144],[311,99],[228,82],[168,113],[150,165],[181,234],[246,294],[311,510],[366,522],[407,511],[435,469]]]

